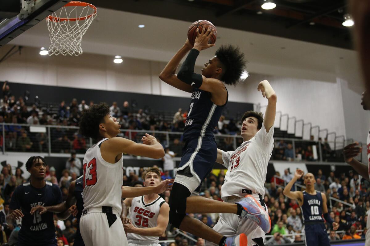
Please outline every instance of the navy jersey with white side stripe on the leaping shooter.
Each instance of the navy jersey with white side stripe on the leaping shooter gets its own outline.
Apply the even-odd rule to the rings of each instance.
[[[226,103],[228,102],[228,97]],[[184,140],[199,136],[214,137],[213,129],[215,129],[226,103],[222,106],[217,106],[211,101],[210,92],[197,88],[191,94],[190,100],[188,118],[185,122],[183,135]]]

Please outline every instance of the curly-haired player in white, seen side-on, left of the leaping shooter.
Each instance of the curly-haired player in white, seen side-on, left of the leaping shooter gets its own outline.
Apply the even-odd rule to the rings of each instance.
[[[122,153],[159,159],[164,150],[148,134],[144,144],[116,137],[120,133],[117,119],[110,116],[107,104],[85,110],[80,119],[80,132],[97,140],[85,153],[83,161],[84,211],[80,230],[85,245],[128,245],[120,214],[122,210]]]

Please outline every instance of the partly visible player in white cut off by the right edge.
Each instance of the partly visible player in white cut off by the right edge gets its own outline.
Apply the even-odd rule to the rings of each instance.
[[[361,105],[364,110],[370,110],[370,91],[366,90],[362,93]],[[359,162],[354,157],[358,156],[362,152],[362,146],[359,146],[358,142],[350,143],[344,147],[343,155],[346,163],[350,164],[354,170],[357,171],[364,179],[370,181],[370,131],[367,133],[366,141],[367,151],[367,165]],[[366,228],[370,228],[370,215],[367,216]],[[370,230],[367,230],[365,235],[366,241],[365,246],[370,246]]]

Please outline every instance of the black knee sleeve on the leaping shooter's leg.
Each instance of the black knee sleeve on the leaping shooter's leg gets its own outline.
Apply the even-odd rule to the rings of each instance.
[[[179,183],[174,183],[169,196],[168,221],[172,226],[179,228],[186,215],[186,198],[189,197],[188,188]]]

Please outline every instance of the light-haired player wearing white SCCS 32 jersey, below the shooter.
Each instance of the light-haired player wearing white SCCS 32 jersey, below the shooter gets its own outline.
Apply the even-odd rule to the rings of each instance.
[[[161,181],[161,171],[152,167],[143,174],[144,186],[156,186]],[[168,225],[169,205],[158,194],[127,198],[122,204],[122,212],[129,218],[122,218],[129,246],[160,246],[159,236]]]

